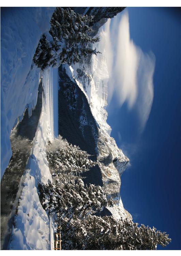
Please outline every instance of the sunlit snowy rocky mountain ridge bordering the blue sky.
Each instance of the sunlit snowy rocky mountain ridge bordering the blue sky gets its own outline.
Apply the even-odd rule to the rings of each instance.
[[[104,42],[102,29],[99,30],[99,36],[100,41]],[[114,138],[110,137],[111,127],[106,123],[107,112],[105,109],[109,74],[104,55],[104,44],[98,42],[94,47],[102,54],[91,56],[87,63],[72,66],[72,75],[79,88],[86,95],[92,115],[97,123],[97,160],[101,169],[104,189],[108,196],[113,197],[118,202],[113,208],[109,208],[109,211],[117,218],[120,216],[131,218],[131,215],[124,210],[120,198],[120,176],[129,163],[129,159],[117,147]]]

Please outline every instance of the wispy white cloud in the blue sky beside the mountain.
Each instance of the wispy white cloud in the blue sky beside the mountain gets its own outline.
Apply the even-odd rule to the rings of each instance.
[[[136,109],[142,132],[153,102],[155,56],[142,52],[131,40],[127,11],[121,14],[121,19],[119,15],[109,19],[102,36],[109,72],[108,102],[115,93],[119,106],[126,102],[129,110]]]

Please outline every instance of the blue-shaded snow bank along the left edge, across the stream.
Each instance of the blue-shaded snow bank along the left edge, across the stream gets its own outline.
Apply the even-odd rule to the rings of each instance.
[[[11,130],[36,105],[39,69],[32,59],[54,10],[1,8],[1,178],[12,155]]]

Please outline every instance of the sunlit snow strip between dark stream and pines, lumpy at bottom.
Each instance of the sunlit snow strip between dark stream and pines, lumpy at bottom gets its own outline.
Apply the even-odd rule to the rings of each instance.
[[[51,174],[46,157],[46,142],[54,137],[54,94],[58,94],[58,69],[43,73],[42,112],[33,140],[27,170],[22,176],[22,192],[9,242],[9,250],[50,250],[52,248],[51,221],[42,208],[37,193],[38,182],[47,183]],[[21,187],[21,185],[20,185]]]

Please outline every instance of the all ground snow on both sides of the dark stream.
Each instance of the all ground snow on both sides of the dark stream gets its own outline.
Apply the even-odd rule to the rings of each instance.
[[[10,133],[25,109],[35,108],[40,70],[33,55],[43,32],[49,31],[55,8],[1,9],[1,177],[11,158]],[[33,140],[32,152],[21,177],[17,214],[14,218],[10,250],[52,248],[52,228],[42,208],[38,182],[51,180],[46,142],[58,134],[58,69],[43,73],[42,112]],[[50,245],[50,241],[51,245]]]

